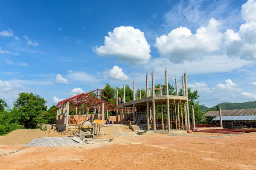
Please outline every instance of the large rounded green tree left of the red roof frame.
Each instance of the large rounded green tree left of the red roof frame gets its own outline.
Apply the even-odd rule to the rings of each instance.
[[[14,106],[19,111],[20,125],[24,125],[26,128],[36,128],[40,122],[39,116],[43,111],[47,111],[46,102],[38,94],[20,93],[17,101],[14,102]]]

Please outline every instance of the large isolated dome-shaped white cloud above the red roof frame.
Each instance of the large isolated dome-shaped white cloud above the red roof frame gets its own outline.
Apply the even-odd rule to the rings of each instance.
[[[144,33],[131,26],[114,28],[105,36],[104,45],[93,48],[99,56],[116,56],[120,61],[144,62],[151,57]]]

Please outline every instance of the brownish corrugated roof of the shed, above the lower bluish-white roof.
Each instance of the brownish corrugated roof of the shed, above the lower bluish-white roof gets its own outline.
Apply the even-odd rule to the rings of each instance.
[[[235,109],[235,110],[223,110],[221,116],[253,116],[256,113],[256,108],[253,109]],[[220,116],[219,111],[208,111],[203,117]]]

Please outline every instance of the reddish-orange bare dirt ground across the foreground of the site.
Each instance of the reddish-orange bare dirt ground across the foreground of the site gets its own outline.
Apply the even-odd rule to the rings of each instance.
[[[101,132],[94,144],[25,147],[0,156],[0,170],[256,170],[256,133],[144,136],[127,127],[102,127]],[[0,146],[0,153],[22,147]]]

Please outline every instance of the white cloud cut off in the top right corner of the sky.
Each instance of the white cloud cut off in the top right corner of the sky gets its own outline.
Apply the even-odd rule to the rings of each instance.
[[[242,5],[241,14],[244,20],[256,22],[256,1],[248,0],[244,3]]]

